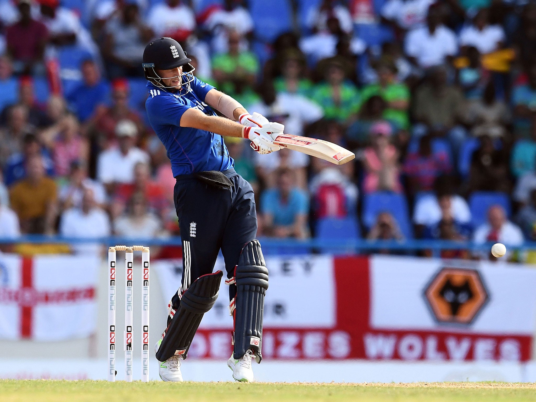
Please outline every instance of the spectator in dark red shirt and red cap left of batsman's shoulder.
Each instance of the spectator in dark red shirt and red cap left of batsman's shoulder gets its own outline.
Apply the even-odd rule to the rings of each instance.
[[[142,118],[129,106],[129,94],[128,81],[116,78],[111,82],[111,105],[99,105],[91,120],[87,122],[88,133],[98,138],[101,148],[106,149],[115,144],[115,127],[121,120],[134,122],[138,133],[144,132]]]

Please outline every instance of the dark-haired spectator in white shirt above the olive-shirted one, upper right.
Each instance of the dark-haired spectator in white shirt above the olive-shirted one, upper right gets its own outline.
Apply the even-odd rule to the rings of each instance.
[[[441,11],[433,4],[428,10],[426,26],[413,29],[406,35],[405,53],[421,68],[444,64],[458,53],[456,35],[442,22]]]

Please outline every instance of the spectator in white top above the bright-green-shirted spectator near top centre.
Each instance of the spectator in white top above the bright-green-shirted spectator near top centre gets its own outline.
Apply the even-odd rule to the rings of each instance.
[[[210,14],[205,21],[205,27],[212,33],[214,53],[227,53],[230,31],[240,34],[240,50],[248,50],[247,38],[253,32],[254,24],[243,0],[225,0],[224,8]]]

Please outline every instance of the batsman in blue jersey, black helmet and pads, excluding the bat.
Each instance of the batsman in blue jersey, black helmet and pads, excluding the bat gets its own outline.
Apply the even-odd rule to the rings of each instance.
[[[190,62],[171,38],[152,41],[143,54],[145,107],[172,162],[182,238],[182,284],[169,302],[168,326],[155,346],[159,374],[163,381],[182,381],[181,359],[218,297],[223,273],[212,270],[221,249],[234,323],[227,366],[237,381],[253,381],[251,359],[262,359],[268,270],[255,240],[253,189],[235,172],[224,137],[247,138],[256,152],[267,154],[280,149],[273,139],[284,126],[248,114],[239,102],[194,77]]]

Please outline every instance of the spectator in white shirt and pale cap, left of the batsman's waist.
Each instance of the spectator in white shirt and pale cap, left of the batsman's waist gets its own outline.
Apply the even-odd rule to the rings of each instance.
[[[132,183],[134,166],[149,162],[149,156],[135,146],[138,129],[131,120],[122,120],[115,126],[118,147],[103,151],[97,161],[97,178],[109,194],[115,183]]]

